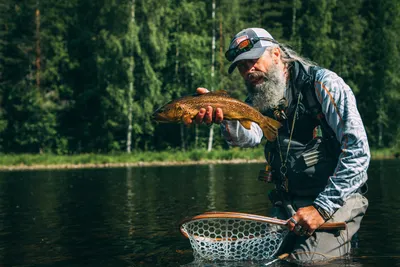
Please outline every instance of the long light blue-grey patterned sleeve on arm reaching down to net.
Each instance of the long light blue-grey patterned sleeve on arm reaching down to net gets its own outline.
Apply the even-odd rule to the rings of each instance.
[[[355,96],[343,79],[321,69],[316,75],[315,93],[342,150],[334,174],[315,200],[333,214],[367,181],[370,151]]]

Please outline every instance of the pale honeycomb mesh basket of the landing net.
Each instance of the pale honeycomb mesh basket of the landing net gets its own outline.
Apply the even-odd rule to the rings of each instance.
[[[215,213],[212,217],[217,218],[197,216],[181,224],[181,232],[189,238],[196,260],[271,259],[288,233],[282,223],[256,220],[251,215],[235,218],[233,213],[220,213],[219,216]]]

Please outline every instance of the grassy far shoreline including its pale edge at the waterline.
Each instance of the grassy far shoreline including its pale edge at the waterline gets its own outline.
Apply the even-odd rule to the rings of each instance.
[[[372,159],[394,159],[399,153],[392,149],[371,150]],[[263,148],[229,150],[205,149],[190,151],[132,152],[110,154],[0,154],[0,171],[118,168],[140,166],[172,166],[194,164],[263,163]]]

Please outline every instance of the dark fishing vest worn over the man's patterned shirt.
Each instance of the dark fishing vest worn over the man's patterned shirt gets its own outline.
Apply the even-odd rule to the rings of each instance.
[[[265,146],[265,156],[278,190],[316,197],[334,173],[341,152],[340,143],[327,124],[315,95],[315,77],[321,68],[297,61],[292,64],[290,77],[293,78],[289,85],[292,101],[284,110],[286,119],[281,120],[277,140]],[[296,122],[290,140],[293,120]],[[282,166],[285,161],[286,167]]]

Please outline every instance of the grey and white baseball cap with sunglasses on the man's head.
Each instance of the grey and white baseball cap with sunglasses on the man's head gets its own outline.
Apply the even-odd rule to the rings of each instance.
[[[249,40],[249,45],[240,48],[239,44]],[[225,57],[231,61],[228,72],[231,74],[238,61],[244,59],[258,59],[264,53],[265,49],[269,46],[277,45],[278,42],[272,37],[272,35],[262,28],[247,28],[237,33],[230,45],[228,51],[225,53]]]

